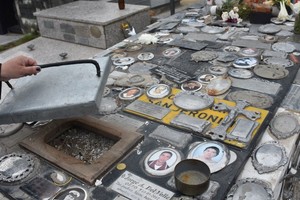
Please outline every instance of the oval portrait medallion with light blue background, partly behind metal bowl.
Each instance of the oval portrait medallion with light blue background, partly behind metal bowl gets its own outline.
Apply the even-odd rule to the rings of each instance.
[[[222,143],[207,141],[192,144],[187,158],[201,160],[207,164],[211,173],[215,173],[226,167],[230,153]]]

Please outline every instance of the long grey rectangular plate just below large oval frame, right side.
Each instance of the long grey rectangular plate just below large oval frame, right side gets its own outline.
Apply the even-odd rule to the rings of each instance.
[[[265,81],[257,78],[252,78],[252,79],[231,78],[231,80],[232,80],[233,87],[253,90],[256,92],[262,92],[270,95],[276,95],[281,87],[281,84],[279,83]]]

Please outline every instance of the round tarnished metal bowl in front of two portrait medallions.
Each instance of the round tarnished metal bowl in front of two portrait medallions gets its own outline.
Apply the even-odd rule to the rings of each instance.
[[[209,187],[210,170],[200,160],[180,161],[175,166],[174,176],[176,189],[185,195],[200,195]]]

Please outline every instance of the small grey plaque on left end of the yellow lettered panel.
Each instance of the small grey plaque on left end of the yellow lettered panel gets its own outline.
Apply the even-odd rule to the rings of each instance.
[[[156,119],[162,119],[170,112],[170,109],[168,108],[163,108],[151,103],[145,103],[138,100],[129,104],[126,107],[126,110],[132,110],[147,116],[154,117]]]

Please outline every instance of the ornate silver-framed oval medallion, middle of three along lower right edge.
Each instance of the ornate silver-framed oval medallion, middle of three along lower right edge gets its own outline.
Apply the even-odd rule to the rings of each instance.
[[[252,164],[258,173],[268,173],[284,166],[288,161],[285,148],[277,141],[266,142],[252,153]]]

